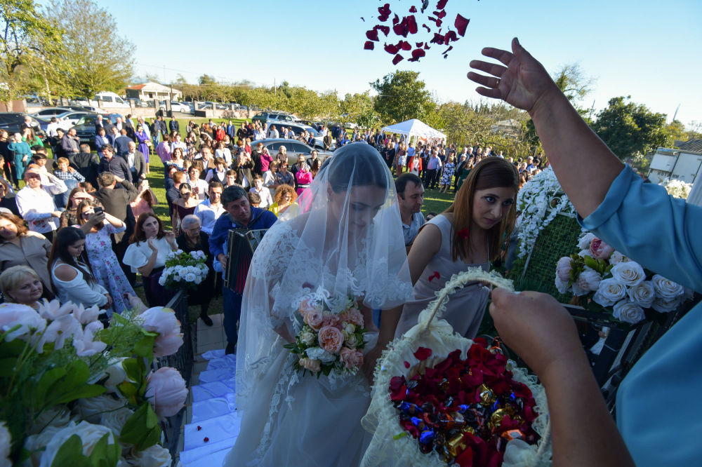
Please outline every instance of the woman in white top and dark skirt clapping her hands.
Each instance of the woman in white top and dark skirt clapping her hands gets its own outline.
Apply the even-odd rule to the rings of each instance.
[[[176,236],[164,231],[164,224],[156,215],[145,212],[139,216],[129,243],[122,262],[143,277],[149,306],[166,305],[174,294],[159,284],[159,278],[166,266],[168,252],[178,250]]]

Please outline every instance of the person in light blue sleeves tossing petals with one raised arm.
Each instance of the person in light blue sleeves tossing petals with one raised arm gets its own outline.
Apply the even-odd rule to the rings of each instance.
[[[479,94],[529,112],[581,224],[621,255],[702,291],[702,208],[671,197],[663,187],[644,184],[592,133],[517,39],[511,52],[484,48],[482,53],[500,63],[474,60],[470,66],[489,76],[470,72],[468,78],[482,86]],[[640,265],[616,260],[612,276],[618,285],[598,285],[600,297],[612,302],[623,297],[622,286],[637,287],[644,280]],[[663,278],[654,276],[651,282],[659,295],[680,292]],[[647,300],[649,292],[636,291],[633,297]],[[627,303],[621,316],[630,316]],[[616,404],[619,431],[592,377],[574,322],[555,299],[496,289],[490,312],[505,344],[545,387],[554,464],[698,465],[702,304],[663,334],[622,381]]]

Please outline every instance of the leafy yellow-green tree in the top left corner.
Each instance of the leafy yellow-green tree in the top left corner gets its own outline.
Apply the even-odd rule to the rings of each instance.
[[[46,54],[61,47],[58,26],[37,14],[33,0],[4,0],[0,3],[0,27],[0,100],[7,102],[44,86],[49,97],[52,67],[46,63]],[[44,86],[36,81],[40,76]]]

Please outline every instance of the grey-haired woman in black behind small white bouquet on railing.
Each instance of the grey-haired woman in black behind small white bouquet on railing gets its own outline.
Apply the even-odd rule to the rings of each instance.
[[[200,318],[208,326],[212,320],[207,316],[207,309],[214,293],[214,272],[212,270],[212,254],[210,253],[210,236],[201,229],[200,218],[196,215],[187,215],[180,221],[180,236],[176,238],[178,248],[186,253],[204,252],[206,254],[207,277],[197,287],[197,294],[188,295],[188,305],[200,306]]]

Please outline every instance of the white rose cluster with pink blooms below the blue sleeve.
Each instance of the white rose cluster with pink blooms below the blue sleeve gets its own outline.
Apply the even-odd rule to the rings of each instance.
[[[555,283],[559,292],[572,293],[585,308],[636,324],[651,310],[670,313],[682,304],[682,285],[646,271],[595,235],[581,236],[578,248],[577,255],[558,260]]]

